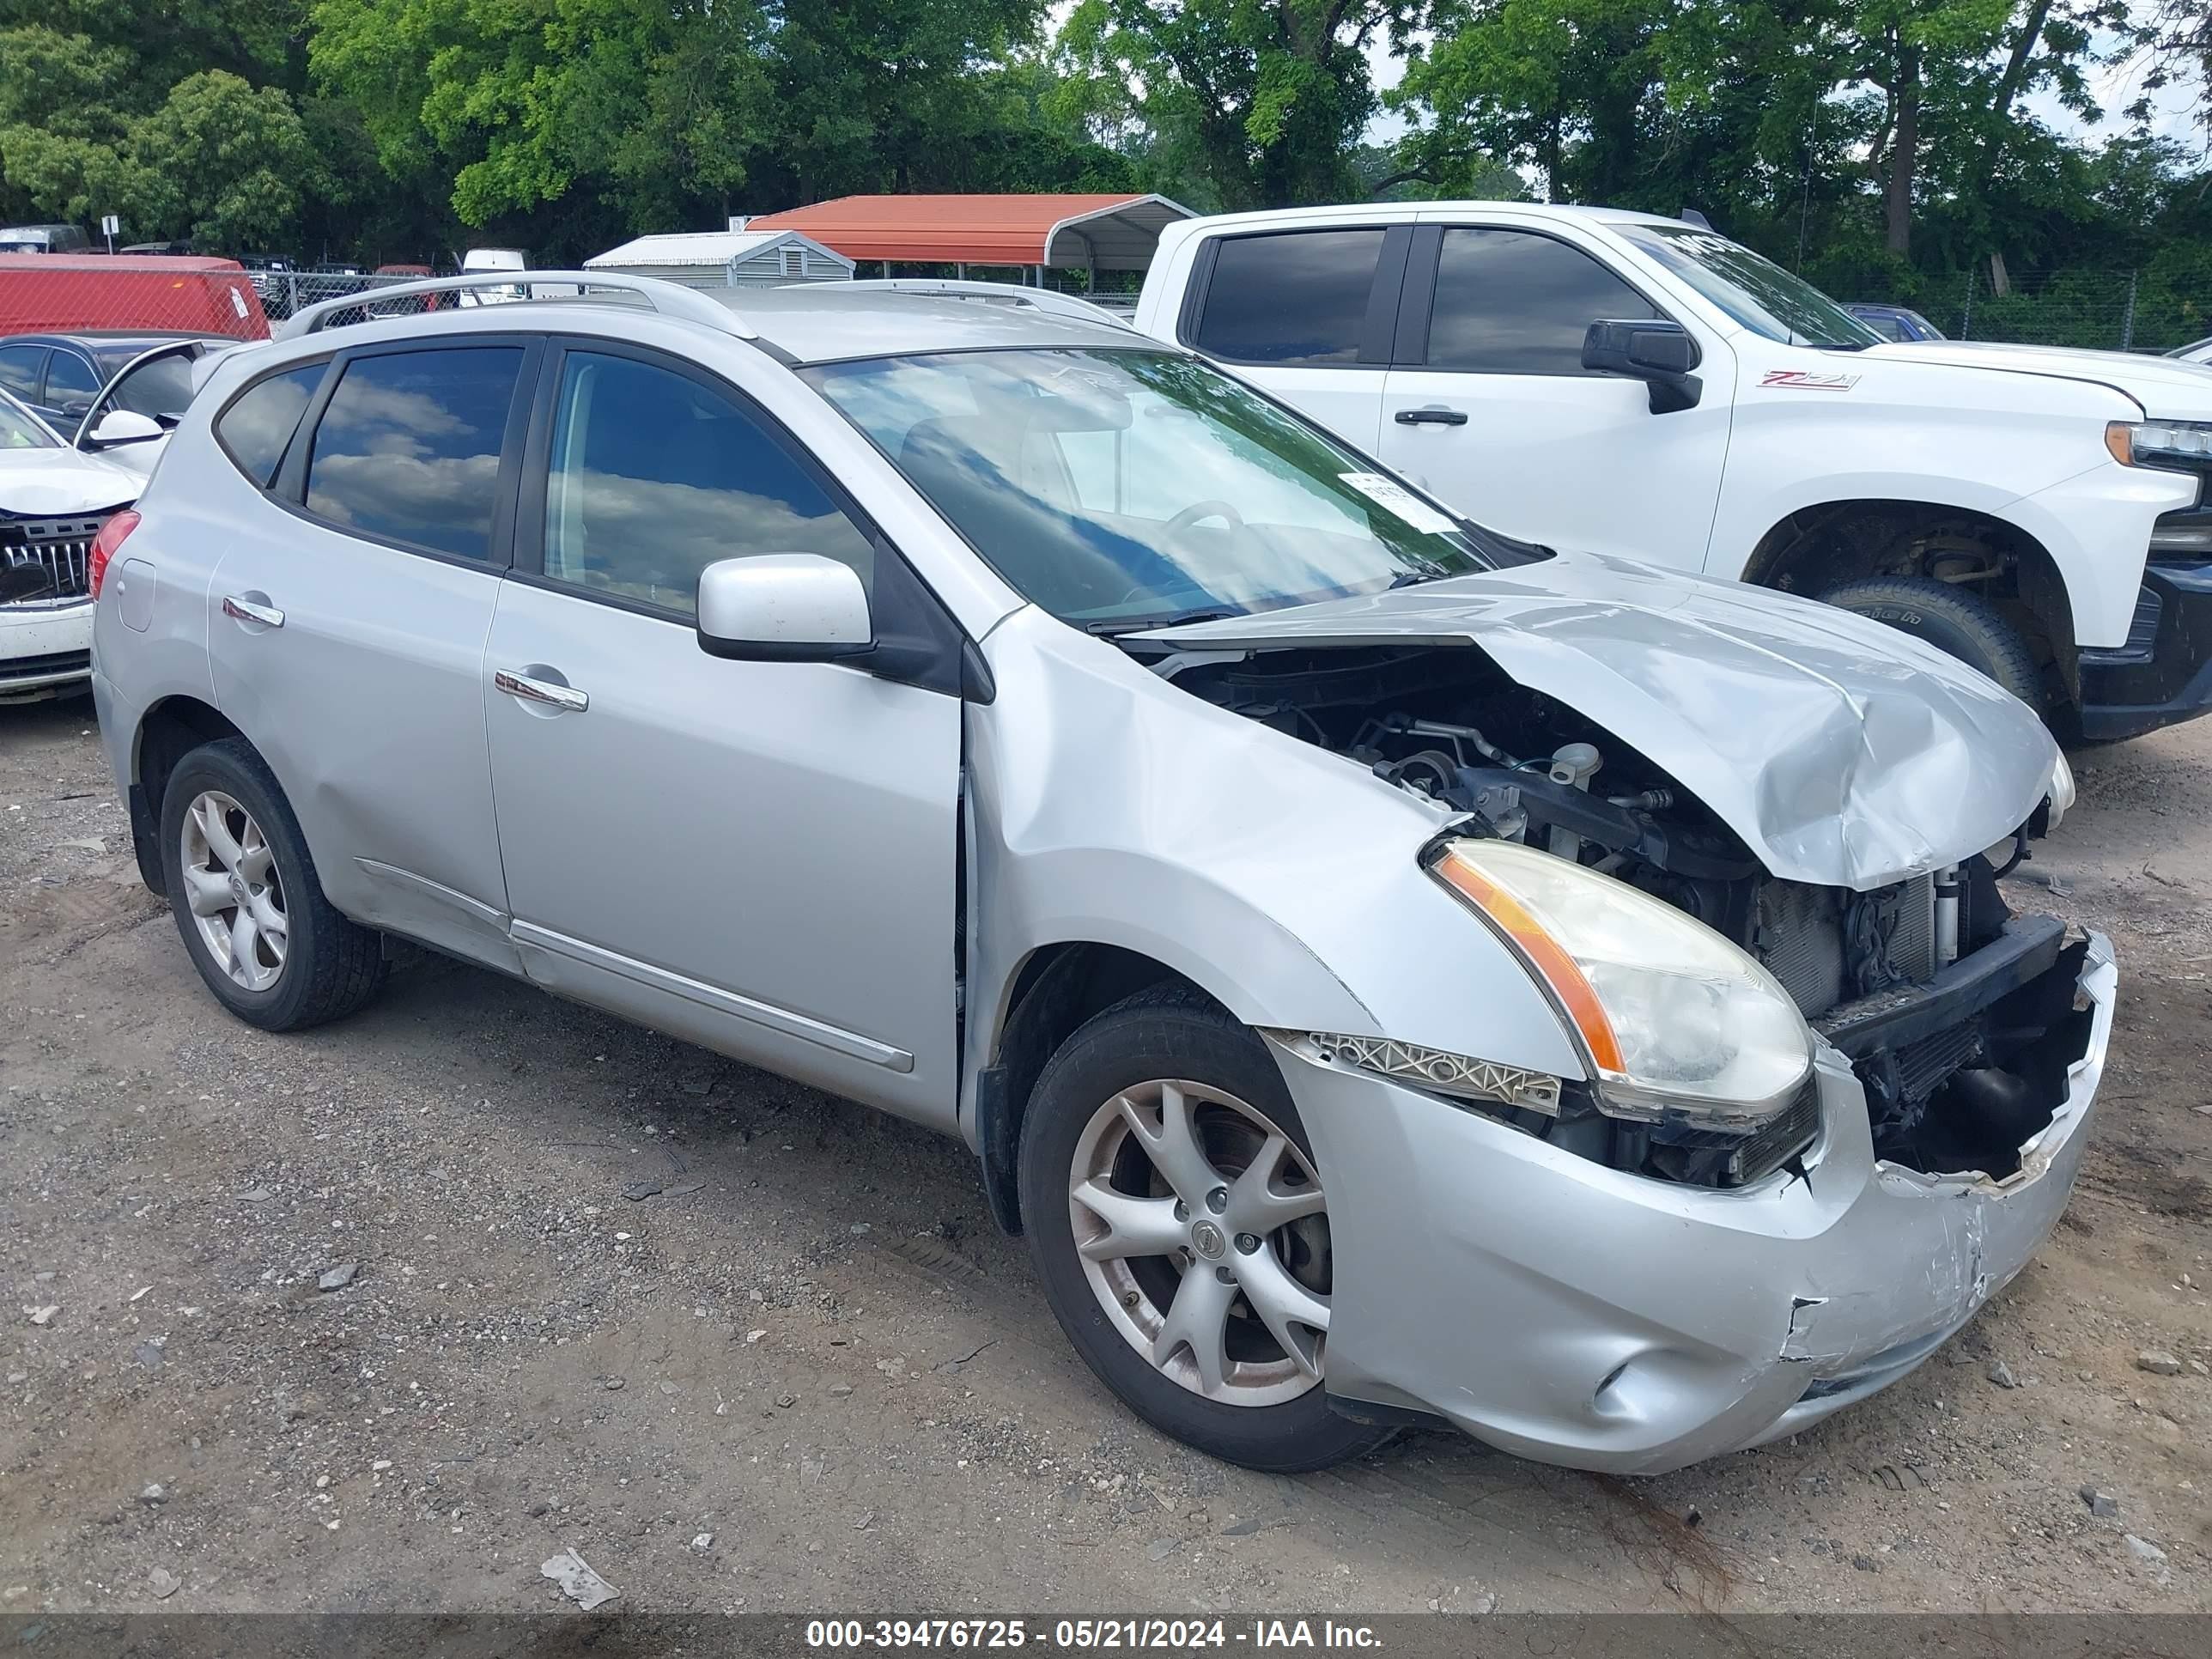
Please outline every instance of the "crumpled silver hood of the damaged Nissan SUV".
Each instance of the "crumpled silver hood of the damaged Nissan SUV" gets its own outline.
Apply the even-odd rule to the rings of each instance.
[[[2022,701],[1909,635],[1595,553],[1133,637],[1471,641],[1672,772],[1770,872],[1832,887],[1885,887],[1995,845],[2057,761]]]

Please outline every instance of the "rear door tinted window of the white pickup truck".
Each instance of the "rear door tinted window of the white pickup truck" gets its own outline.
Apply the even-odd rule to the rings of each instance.
[[[1241,363],[1358,363],[1385,234],[1378,226],[1223,239],[1199,349]]]

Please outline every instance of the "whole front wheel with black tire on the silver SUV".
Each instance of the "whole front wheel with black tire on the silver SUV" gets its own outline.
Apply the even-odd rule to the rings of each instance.
[[[1327,1194],[1281,1068],[1223,1009],[1141,991],[1068,1037],[1020,1183],[1053,1316],[1155,1429],[1276,1473],[1389,1438],[1329,1411]]]

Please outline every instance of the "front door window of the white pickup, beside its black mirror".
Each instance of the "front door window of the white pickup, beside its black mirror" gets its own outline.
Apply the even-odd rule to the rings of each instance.
[[[1657,316],[1586,252],[1526,230],[1447,230],[1436,261],[1429,367],[1582,374],[1601,319]]]

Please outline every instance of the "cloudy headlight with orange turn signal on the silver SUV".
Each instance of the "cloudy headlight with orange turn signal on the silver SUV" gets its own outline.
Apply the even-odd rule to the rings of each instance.
[[[1812,1033],[1747,951],[1624,880],[1511,841],[1453,841],[1431,865],[1551,991],[1599,1110],[1750,1130],[1812,1071]]]

